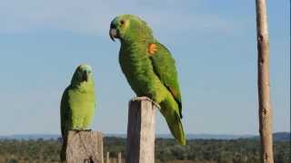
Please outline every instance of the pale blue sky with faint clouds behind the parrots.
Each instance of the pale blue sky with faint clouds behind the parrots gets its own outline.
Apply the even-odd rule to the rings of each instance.
[[[290,2],[268,1],[274,131],[290,131]],[[187,133],[258,134],[253,1],[0,0],[0,135],[60,134],[59,103],[75,67],[95,72],[93,129],[125,133],[135,96],[108,36],[137,14],[176,59]],[[157,112],[157,133],[169,133]]]

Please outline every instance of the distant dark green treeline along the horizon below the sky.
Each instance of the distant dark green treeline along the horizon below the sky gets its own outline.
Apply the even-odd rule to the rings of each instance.
[[[104,151],[111,158],[121,152],[125,157],[125,139],[105,138]],[[275,161],[290,162],[290,141],[275,141]],[[61,143],[55,139],[0,140],[0,162],[58,162]],[[259,158],[257,139],[195,139],[186,146],[176,144],[174,139],[156,139],[156,162],[219,162],[256,163]],[[176,161],[173,161],[176,160]],[[187,160],[187,161],[177,161]]]

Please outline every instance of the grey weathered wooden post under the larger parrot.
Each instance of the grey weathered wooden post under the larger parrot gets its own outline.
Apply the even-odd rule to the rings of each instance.
[[[126,163],[155,162],[156,105],[147,97],[129,101]]]

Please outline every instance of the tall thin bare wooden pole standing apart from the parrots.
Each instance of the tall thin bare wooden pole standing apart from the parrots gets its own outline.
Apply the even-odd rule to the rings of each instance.
[[[256,0],[257,88],[261,160],[273,163],[272,108],[269,83],[269,41],[266,20],[266,0]]]

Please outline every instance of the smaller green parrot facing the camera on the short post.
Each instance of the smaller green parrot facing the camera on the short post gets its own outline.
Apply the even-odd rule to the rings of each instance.
[[[95,82],[90,65],[79,65],[61,100],[61,131],[65,160],[65,143],[68,130],[90,130],[95,115]]]

